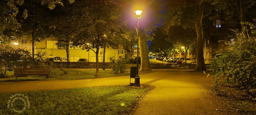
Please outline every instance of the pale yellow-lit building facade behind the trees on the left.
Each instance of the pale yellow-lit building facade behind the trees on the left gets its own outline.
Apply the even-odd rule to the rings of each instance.
[[[14,42],[11,43],[13,47],[22,47],[30,50],[32,52],[32,40],[31,36],[23,36],[19,41],[16,41],[18,45],[14,45]],[[38,51],[45,51],[47,52],[47,57],[67,57],[66,49],[58,48],[56,43],[58,41],[54,38],[47,38],[45,41],[42,42],[35,42],[34,51],[35,54]],[[113,49],[111,47],[105,49],[105,62],[110,61],[110,57],[114,57],[115,59],[118,58],[125,58],[130,59],[133,58],[133,52],[131,52],[132,47],[125,46],[125,45],[118,45],[118,49]],[[80,58],[87,58],[89,62],[96,62],[96,49],[91,49],[89,51],[82,50],[81,46],[70,46],[69,47],[69,59],[70,61],[77,61]],[[103,62],[103,54],[104,49],[99,49],[99,62]]]

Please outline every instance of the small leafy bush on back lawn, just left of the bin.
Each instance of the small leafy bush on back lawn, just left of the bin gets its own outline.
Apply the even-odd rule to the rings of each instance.
[[[110,58],[110,63],[112,70],[115,74],[124,73],[126,69],[126,63],[128,63],[127,59],[119,58],[115,60],[114,58]]]

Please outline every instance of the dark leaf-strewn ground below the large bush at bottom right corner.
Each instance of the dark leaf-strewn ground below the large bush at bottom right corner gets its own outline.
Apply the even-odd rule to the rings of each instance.
[[[237,84],[230,84],[223,80],[219,82],[218,91],[215,92],[221,100],[240,114],[255,115],[256,101]]]

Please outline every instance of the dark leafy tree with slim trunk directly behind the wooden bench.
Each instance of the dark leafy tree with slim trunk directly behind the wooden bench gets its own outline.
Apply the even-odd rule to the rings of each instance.
[[[35,58],[35,42],[44,41],[47,37],[50,37],[49,31],[49,8],[40,5],[40,1],[25,0],[22,6],[19,6],[19,11],[27,11],[27,18],[22,18],[21,14],[17,17],[20,20],[21,28],[19,34],[21,36],[32,36],[32,57]],[[43,18],[42,18],[43,17]],[[19,36],[16,34],[16,36]]]

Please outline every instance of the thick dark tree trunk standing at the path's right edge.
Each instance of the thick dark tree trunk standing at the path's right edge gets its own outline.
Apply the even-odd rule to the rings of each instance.
[[[204,4],[201,3],[198,5],[198,14],[195,21],[195,28],[196,28],[196,35],[197,35],[197,42],[196,42],[196,52],[197,52],[196,70],[197,71],[205,70],[204,53],[203,53],[204,33],[202,28],[203,12],[204,12]]]

